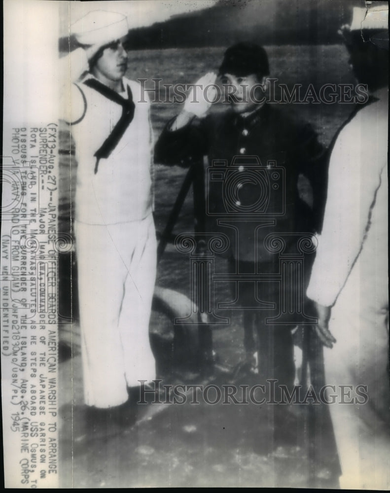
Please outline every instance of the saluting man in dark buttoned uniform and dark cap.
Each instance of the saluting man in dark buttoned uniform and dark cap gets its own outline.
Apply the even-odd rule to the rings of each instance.
[[[320,210],[323,170],[318,158],[323,149],[310,125],[293,121],[265,101],[268,75],[262,47],[242,42],[228,48],[219,68],[222,89],[228,88],[225,110],[208,114],[212,93],[217,94],[216,74],[210,72],[197,81],[183,110],[168,122],[156,144],[155,160],[185,166],[207,155],[215,171],[208,176],[209,231],[228,236],[230,272],[275,281],[279,254],[266,238],[281,235],[283,253],[295,254],[299,235],[315,231],[315,211],[301,199],[298,181],[300,175],[307,177],[315,209]],[[231,308],[242,308],[247,357],[262,381],[274,378],[293,387],[291,328],[301,320],[287,316],[273,324],[266,319],[282,310],[284,295],[283,299],[291,294],[304,300],[304,282],[236,283]]]

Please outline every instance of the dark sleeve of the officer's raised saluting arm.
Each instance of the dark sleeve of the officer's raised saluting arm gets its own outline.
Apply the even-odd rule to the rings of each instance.
[[[155,163],[169,166],[189,166],[207,154],[209,140],[207,118],[194,118],[185,127],[170,131],[175,118],[162,131],[154,148]]]

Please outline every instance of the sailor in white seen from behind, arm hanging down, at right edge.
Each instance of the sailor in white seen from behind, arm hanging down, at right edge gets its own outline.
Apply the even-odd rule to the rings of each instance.
[[[337,394],[329,407],[340,486],[389,490],[389,6],[372,3],[354,8],[351,27],[343,29],[356,78],[371,97],[340,131],[331,153],[307,295],[316,302],[316,330],[328,348],[326,381]]]

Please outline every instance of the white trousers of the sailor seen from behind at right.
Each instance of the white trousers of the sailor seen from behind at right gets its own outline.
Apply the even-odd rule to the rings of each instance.
[[[378,282],[381,277],[383,282]],[[333,349],[324,349],[325,373],[327,384],[336,386],[338,394],[338,402],[329,407],[343,471],[342,489],[390,489],[386,280],[386,266],[381,276],[369,268],[367,261],[359,259],[329,321],[337,343]],[[343,391],[337,387],[340,385],[353,386],[353,390],[347,389],[342,398]],[[358,397],[355,388],[359,385],[367,386],[368,401],[348,404]],[[364,400],[358,397],[359,402]]]

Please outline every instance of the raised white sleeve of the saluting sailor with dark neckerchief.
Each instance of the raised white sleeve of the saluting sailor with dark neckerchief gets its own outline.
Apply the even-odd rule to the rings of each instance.
[[[77,48],[59,60],[60,116],[68,123],[77,121],[84,113],[85,102],[74,82],[88,70],[85,50]]]

